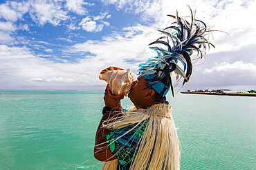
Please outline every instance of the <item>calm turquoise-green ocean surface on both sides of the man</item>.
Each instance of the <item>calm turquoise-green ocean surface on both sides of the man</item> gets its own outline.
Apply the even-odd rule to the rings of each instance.
[[[102,91],[0,90],[0,169],[100,169]],[[256,169],[256,98],[167,95],[181,169]],[[129,98],[122,107],[131,107]]]

